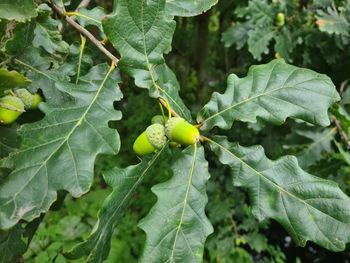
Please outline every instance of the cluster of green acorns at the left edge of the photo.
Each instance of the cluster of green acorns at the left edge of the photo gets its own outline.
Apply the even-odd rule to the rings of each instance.
[[[28,109],[37,109],[42,98],[38,93],[32,94],[26,89],[5,91],[0,98],[0,124],[13,123]]]

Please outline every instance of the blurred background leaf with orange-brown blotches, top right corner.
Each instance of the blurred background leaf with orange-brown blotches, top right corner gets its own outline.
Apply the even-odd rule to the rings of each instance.
[[[327,8],[327,12],[322,10],[317,11],[316,24],[322,32],[329,34],[341,34],[348,36],[350,24],[344,16],[331,7]]]

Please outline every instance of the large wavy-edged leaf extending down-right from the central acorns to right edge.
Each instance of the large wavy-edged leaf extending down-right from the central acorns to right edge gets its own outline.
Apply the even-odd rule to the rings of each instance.
[[[210,147],[228,165],[235,186],[249,191],[253,214],[282,224],[297,245],[311,240],[332,251],[350,241],[350,198],[335,182],[303,171],[294,156],[271,161],[261,146],[215,137]]]

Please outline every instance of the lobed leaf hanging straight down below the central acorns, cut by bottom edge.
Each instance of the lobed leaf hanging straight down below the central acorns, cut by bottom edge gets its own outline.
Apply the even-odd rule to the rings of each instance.
[[[141,262],[202,262],[213,232],[204,212],[210,175],[203,148],[178,152],[171,169],[173,177],[152,188],[158,201],[140,222],[147,234]]]

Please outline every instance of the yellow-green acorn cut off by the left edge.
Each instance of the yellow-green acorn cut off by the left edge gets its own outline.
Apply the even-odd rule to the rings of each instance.
[[[24,112],[24,104],[15,96],[5,96],[0,99],[0,123],[10,124]]]

